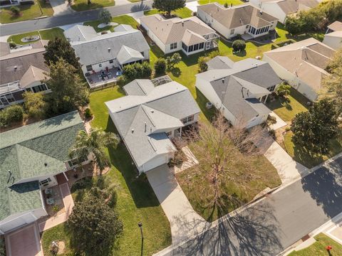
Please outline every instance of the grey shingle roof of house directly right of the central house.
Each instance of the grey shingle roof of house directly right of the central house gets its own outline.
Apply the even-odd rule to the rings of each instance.
[[[271,92],[267,88],[281,82],[269,63],[252,58],[233,63],[226,58],[213,58],[209,67],[215,69],[197,74],[197,79],[210,83],[224,107],[239,119],[239,122],[248,122],[258,114],[269,113],[270,110],[253,97],[269,95]],[[222,65],[222,68],[219,65]]]

